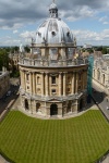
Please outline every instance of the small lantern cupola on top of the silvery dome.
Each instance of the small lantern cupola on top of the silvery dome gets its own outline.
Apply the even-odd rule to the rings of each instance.
[[[58,8],[56,4],[56,0],[52,0],[52,4],[49,8],[50,17],[58,17]]]

